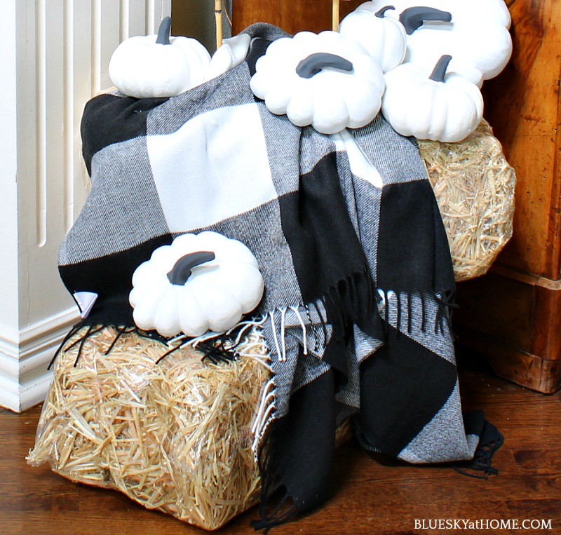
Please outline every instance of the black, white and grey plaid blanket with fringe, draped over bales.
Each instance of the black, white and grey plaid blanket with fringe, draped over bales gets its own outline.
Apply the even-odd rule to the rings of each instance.
[[[273,369],[255,443],[270,527],[326,498],[349,415],[365,448],[413,463],[472,459],[485,422],[461,414],[450,251],[414,140],[381,116],[332,136],[273,116],[250,76],[285,34],[246,32],[247,60],[187,93],[88,102],[92,189],[60,274],[99,294],[89,323],[133,325],[131,276],[156,247],[211,229],[252,250]],[[271,514],[279,486],[294,505]]]

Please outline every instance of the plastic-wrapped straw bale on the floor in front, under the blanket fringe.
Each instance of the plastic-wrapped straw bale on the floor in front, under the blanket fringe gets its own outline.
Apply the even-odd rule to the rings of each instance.
[[[119,489],[142,506],[217,529],[259,498],[252,424],[270,378],[257,332],[233,363],[202,362],[104,327],[58,356],[28,462],[76,482]],[[106,354],[107,353],[107,354]]]

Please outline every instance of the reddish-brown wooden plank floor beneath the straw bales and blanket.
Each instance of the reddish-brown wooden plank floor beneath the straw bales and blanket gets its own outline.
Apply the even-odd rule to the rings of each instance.
[[[446,466],[419,467],[374,458],[354,444],[339,449],[332,499],[304,518],[277,527],[283,534],[561,534],[561,395],[543,395],[507,383],[479,360],[461,355],[464,407],[483,408],[503,433],[496,453],[500,473],[489,480]],[[40,407],[23,414],[0,409],[0,534],[195,535],[204,531],[144,510],[118,492],[76,485],[32,468]],[[255,510],[219,530],[254,533]],[[489,521],[469,529],[425,529],[436,519]],[[421,521],[425,524],[421,524]],[[433,521],[429,524],[429,521]],[[496,529],[497,522],[534,520],[528,529]],[[550,521],[538,529],[535,521]],[[504,524],[503,524],[504,525]]]

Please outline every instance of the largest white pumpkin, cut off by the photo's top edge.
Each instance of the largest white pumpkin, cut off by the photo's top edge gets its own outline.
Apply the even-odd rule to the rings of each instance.
[[[386,1],[367,1],[357,9],[375,13]],[[398,17],[407,8],[419,6],[419,1],[396,0],[392,4],[396,11],[388,17]],[[513,45],[508,32],[511,15],[503,0],[424,0],[422,5],[449,11],[452,20],[425,22],[409,34],[405,62],[420,65],[428,74],[440,56],[452,55],[450,70],[479,87],[504,69]]]

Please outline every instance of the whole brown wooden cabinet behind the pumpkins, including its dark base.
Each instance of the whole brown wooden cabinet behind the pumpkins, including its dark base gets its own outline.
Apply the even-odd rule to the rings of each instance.
[[[234,0],[234,32],[271,22],[288,32],[331,23],[327,0]],[[341,13],[361,1],[344,1]],[[561,1],[507,0],[510,64],[485,82],[485,117],[517,174],[514,233],[486,276],[460,283],[459,343],[512,381],[561,386]],[[485,39],[485,36],[480,36]]]

